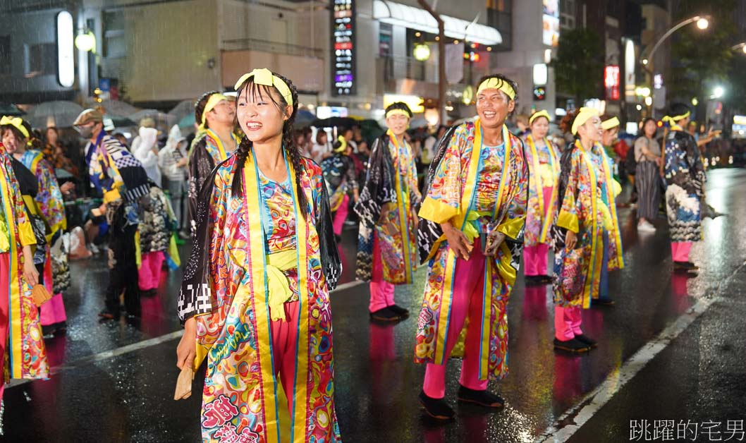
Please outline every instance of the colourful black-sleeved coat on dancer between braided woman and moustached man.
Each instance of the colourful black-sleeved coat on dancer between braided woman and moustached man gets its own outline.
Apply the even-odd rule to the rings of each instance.
[[[373,239],[380,247],[383,280],[412,283],[417,263],[417,219],[414,208],[422,198],[414,152],[398,143],[391,131],[376,140],[369,160],[366,185],[355,205],[360,217],[357,278],[371,280]],[[381,220],[382,213],[386,219]]]

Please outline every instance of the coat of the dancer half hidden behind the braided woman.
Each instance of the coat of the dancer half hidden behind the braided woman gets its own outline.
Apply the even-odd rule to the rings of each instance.
[[[235,136],[233,137],[233,141],[238,146]],[[207,129],[204,133],[198,134],[194,141],[192,141],[192,146],[189,148],[189,189],[187,191],[192,236],[194,236],[197,230],[195,220],[197,219],[197,196],[199,195],[199,191],[204,186],[204,181],[207,180],[210,172],[213,172],[213,169],[215,169],[215,166],[227,159],[231,154],[225,151],[222,140],[212,129]]]

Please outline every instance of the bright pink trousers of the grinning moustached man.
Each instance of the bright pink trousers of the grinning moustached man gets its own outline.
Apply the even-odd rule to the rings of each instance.
[[[479,380],[480,325],[482,324],[482,296],[484,291],[485,257],[481,242],[474,242],[469,260],[456,261],[454,289],[451,295],[451,319],[448,321],[448,335],[445,338],[445,362],[451,356],[464,322],[468,315],[469,327],[464,342],[464,358],[461,362],[459,383],[468,389],[484,391],[488,380]],[[445,397],[445,362],[442,365],[428,363],[424,371],[422,390],[430,398]]]

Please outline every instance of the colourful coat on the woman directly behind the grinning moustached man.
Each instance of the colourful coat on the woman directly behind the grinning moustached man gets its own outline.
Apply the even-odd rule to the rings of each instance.
[[[526,137],[524,145],[524,154],[530,175],[524,246],[551,243],[551,227],[554,224],[554,216],[557,214],[560,151],[549,139],[544,139],[544,142],[544,146],[537,146],[529,135]],[[544,188],[552,189],[549,201],[544,201]],[[547,207],[548,217],[545,216]]]

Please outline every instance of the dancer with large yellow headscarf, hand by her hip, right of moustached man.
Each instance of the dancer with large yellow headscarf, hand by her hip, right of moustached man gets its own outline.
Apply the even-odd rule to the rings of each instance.
[[[611,257],[619,257],[615,243],[609,241],[616,213],[606,181],[609,163],[598,161],[600,156],[606,158],[598,111],[581,107],[562,119],[562,130],[571,131],[576,139],[562,153],[562,203],[553,235],[554,348],[586,352],[597,344],[580,328],[581,310],[608,291]]]

